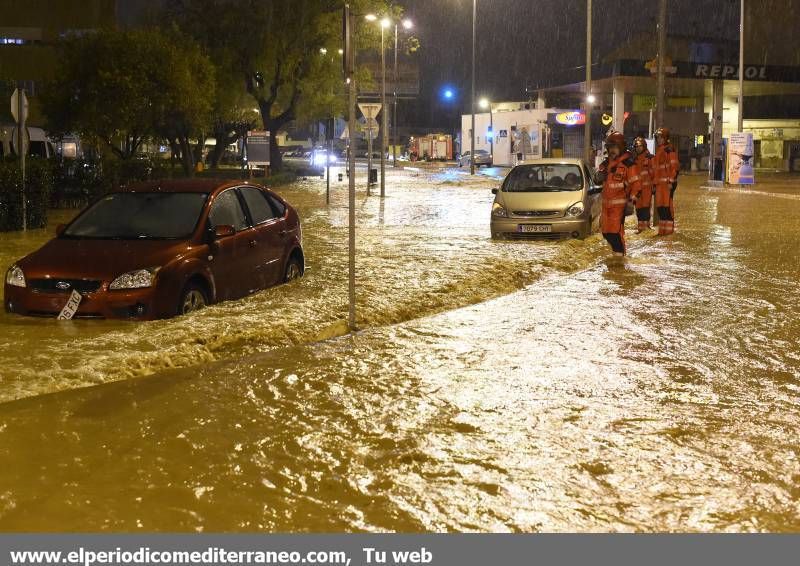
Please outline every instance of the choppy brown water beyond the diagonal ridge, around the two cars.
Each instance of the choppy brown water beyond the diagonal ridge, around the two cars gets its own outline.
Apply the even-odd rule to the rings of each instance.
[[[333,175],[335,179],[335,173]],[[358,324],[391,324],[522,288],[546,260],[576,261],[595,246],[520,246],[489,238],[489,188],[457,173],[398,173],[385,201],[358,195]],[[308,271],[291,285],[190,317],[131,323],[0,314],[0,401],[314,342],[347,330],[347,189],[334,181],[325,205],[319,179],[282,188],[303,222]],[[68,217],[56,214],[53,224]],[[52,230],[0,234],[0,269]]]

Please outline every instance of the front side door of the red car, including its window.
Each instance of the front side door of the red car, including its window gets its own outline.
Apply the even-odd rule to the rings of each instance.
[[[215,240],[210,247],[213,259],[209,265],[214,274],[217,299],[235,299],[247,295],[259,283],[254,280],[258,263],[257,247],[253,244],[253,229],[248,226],[235,189],[217,195],[211,204],[208,221],[216,226],[233,226],[236,233]]]

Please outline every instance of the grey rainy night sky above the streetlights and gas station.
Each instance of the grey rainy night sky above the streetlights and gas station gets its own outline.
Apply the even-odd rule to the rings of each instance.
[[[469,103],[471,0],[406,0],[422,43],[422,97],[436,103],[443,84]],[[655,56],[657,0],[594,0],[595,62],[615,46],[652,33]],[[738,39],[738,0],[670,0],[668,32]],[[526,83],[546,79],[554,66],[584,67],[585,0],[478,0],[476,93],[494,100],[526,98]]]

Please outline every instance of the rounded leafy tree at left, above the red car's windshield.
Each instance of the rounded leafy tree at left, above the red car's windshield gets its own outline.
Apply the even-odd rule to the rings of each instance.
[[[207,123],[214,68],[174,31],[103,30],[62,41],[56,79],[42,97],[48,129],[79,132],[130,159],[148,138],[181,148],[191,172],[190,136]]]

